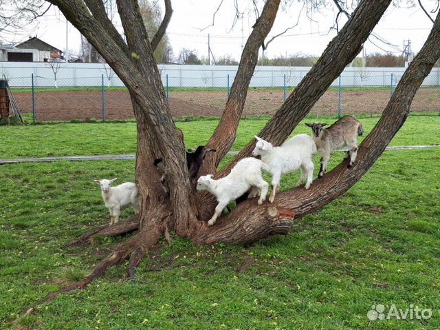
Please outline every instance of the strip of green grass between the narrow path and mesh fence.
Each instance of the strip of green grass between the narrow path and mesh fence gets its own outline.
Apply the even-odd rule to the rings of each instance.
[[[244,147],[270,119],[268,116],[244,118],[237,133],[232,150]],[[321,121],[333,123],[334,116],[305,119],[293,134],[307,133],[305,122]],[[362,116],[366,136],[379,117]],[[217,126],[218,118],[197,121],[177,121],[177,127],[185,132],[186,146],[204,144]],[[409,116],[391,145],[440,144],[440,116]],[[362,141],[360,137],[360,141]],[[3,125],[0,126],[0,158],[76,156],[94,154],[135,154],[136,124],[126,123],[54,123],[47,125]]]

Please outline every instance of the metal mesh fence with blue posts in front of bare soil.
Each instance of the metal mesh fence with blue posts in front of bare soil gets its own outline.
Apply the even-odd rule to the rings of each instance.
[[[243,114],[274,114],[305,74],[307,71],[285,71],[253,76]],[[401,74],[386,71],[342,74],[311,114],[380,114],[400,79]],[[412,111],[440,111],[439,81],[438,76],[428,76],[412,102]],[[162,82],[173,116],[221,116],[234,76],[164,74]],[[32,114],[35,121],[133,118],[129,92],[114,75],[57,79],[26,76],[8,79],[8,83],[21,112]]]

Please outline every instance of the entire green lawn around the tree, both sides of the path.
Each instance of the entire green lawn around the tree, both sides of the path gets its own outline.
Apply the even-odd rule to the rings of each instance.
[[[242,121],[233,149],[265,121]],[[366,133],[376,121],[362,118]],[[177,123],[188,147],[205,143],[216,124]],[[439,117],[410,116],[392,145],[440,144],[439,127]],[[0,158],[132,154],[135,123],[1,126],[0,138]],[[329,167],[341,158],[335,152]],[[439,161],[434,148],[384,152],[341,198],[294,220],[288,236],[250,247],[173,236],[172,245],[149,251],[134,280],[126,264],[113,267],[25,317],[17,313],[85,276],[127,237],[66,246],[109,221],[92,178],[133,181],[134,161],[2,165],[0,329],[439,329]],[[285,176],[282,189],[297,178]],[[131,214],[124,209],[121,217]],[[432,316],[370,321],[379,304],[385,313],[417,306]]]

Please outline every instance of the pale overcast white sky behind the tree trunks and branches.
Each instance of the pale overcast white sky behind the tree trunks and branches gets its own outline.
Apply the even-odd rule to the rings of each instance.
[[[236,22],[234,27],[234,1],[223,0],[222,6],[214,17],[221,0],[188,0],[173,1],[173,17],[168,25],[167,35],[173,52],[177,57],[182,48],[195,50],[199,57],[208,56],[208,34],[210,34],[210,47],[215,58],[229,55],[239,60],[242,46],[252,31],[255,22],[251,8],[245,10],[243,19]],[[252,1],[239,1],[241,6]],[[260,1],[261,3],[263,1]],[[424,0],[422,3],[427,10],[435,8],[435,2]],[[162,5],[162,1],[158,2]],[[249,6],[249,5],[247,5]],[[322,12],[315,12],[311,19],[307,18],[305,9],[298,1],[292,1],[292,6],[280,8],[274,23],[274,27],[266,39],[283,32],[286,28],[296,25],[288,30],[283,36],[278,37],[270,43],[265,51],[266,58],[275,56],[289,56],[291,54],[304,54],[319,56],[327,44],[336,36],[336,30],[330,30],[336,18],[336,8],[326,8]],[[299,17],[299,18],[298,18]],[[432,14],[434,18],[434,14]],[[340,28],[343,23],[340,23]],[[419,8],[395,8],[391,6],[376,26],[373,33],[383,39],[382,42],[375,37],[366,41],[364,48],[366,54],[373,52],[393,52],[400,55],[404,41],[411,41],[412,51],[417,53],[423,42],[428,37],[432,22]],[[30,36],[37,36],[43,41],[54,45],[56,48],[66,48],[66,28],[68,31],[68,48],[79,53],[80,33],[72,24],[66,24],[63,14],[56,8],[52,8],[39,24],[15,38],[15,41],[25,40]],[[28,35],[26,35],[28,33]],[[24,39],[23,39],[24,38]]]

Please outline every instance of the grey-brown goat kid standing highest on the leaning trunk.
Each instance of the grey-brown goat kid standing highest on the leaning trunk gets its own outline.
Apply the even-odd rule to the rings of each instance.
[[[327,172],[330,153],[335,149],[347,146],[349,151],[345,158],[350,157],[349,168],[353,166],[358,156],[358,135],[364,134],[362,124],[357,119],[344,116],[325,130],[322,129],[327,125],[325,123],[306,123],[305,125],[311,127],[311,137],[316,143],[318,152],[322,155],[318,178],[322,178]]]

